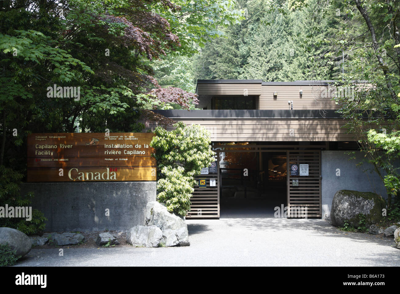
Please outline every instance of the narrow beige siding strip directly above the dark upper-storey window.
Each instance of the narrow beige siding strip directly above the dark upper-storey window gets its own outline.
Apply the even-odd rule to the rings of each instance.
[[[261,83],[199,83],[199,95],[261,95]]]

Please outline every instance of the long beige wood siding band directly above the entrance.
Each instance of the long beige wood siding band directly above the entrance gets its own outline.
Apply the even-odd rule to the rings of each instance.
[[[179,119],[211,131],[212,141],[349,141],[351,134],[337,119]],[[154,129],[150,125],[150,129]]]

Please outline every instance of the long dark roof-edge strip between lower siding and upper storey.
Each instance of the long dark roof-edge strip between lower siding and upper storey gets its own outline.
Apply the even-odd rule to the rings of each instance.
[[[153,110],[168,118],[341,118],[335,110]]]

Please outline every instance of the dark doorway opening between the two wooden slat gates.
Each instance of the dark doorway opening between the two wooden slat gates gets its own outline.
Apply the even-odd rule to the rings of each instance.
[[[286,151],[220,152],[220,217],[274,217],[287,206]]]

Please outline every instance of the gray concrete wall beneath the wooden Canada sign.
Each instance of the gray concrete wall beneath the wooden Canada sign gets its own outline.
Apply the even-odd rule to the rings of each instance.
[[[46,231],[127,230],[144,225],[146,204],[156,200],[156,182],[24,183],[32,209],[48,219]],[[106,216],[106,208],[110,216]]]

